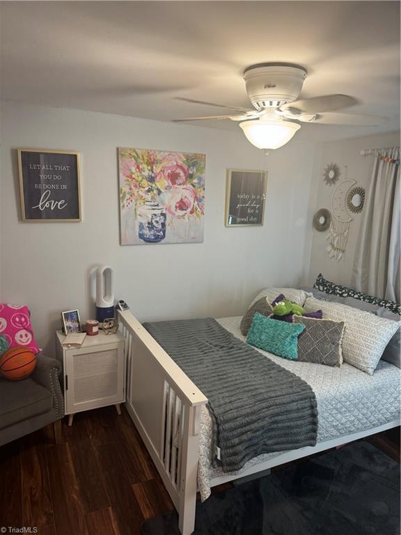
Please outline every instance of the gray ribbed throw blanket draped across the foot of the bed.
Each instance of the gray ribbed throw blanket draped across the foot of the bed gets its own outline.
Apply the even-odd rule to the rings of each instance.
[[[297,375],[212,318],[143,326],[207,396],[214,466],[233,472],[262,453],[316,444],[315,394]]]

